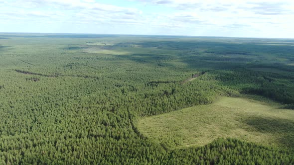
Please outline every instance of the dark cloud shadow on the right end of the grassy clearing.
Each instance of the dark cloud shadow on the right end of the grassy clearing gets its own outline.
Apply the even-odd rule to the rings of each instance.
[[[294,147],[294,121],[252,116],[243,122],[259,132],[273,134],[283,145]]]

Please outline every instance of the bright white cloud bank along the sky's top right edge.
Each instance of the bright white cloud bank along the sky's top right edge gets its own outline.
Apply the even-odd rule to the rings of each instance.
[[[178,10],[230,11],[232,9],[250,11],[256,14],[293,14],[293,0],[137,0],[145,4],[164,5]]]

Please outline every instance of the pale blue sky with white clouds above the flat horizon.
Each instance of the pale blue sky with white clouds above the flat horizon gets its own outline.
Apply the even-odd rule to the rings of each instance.
[[[0,32],[294,38],[294,0],[0,0]]]

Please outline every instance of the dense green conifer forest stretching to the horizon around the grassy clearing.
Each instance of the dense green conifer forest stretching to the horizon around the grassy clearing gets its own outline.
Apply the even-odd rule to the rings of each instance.
[[[294,111],[259,119],[268,136],[283,127],[275,145],[177,148],[137,127],[223,96],[294,109],[294,40],[0,33],[0,59],[1,165],[294,164]]]

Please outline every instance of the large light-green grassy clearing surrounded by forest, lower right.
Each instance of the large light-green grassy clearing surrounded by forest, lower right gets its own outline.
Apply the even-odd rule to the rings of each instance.
[[[252,96],[221,97],[210,105],[144,117],[137,126],[171,149],[203,146],[219,137],[294,147],[294,111]]]

